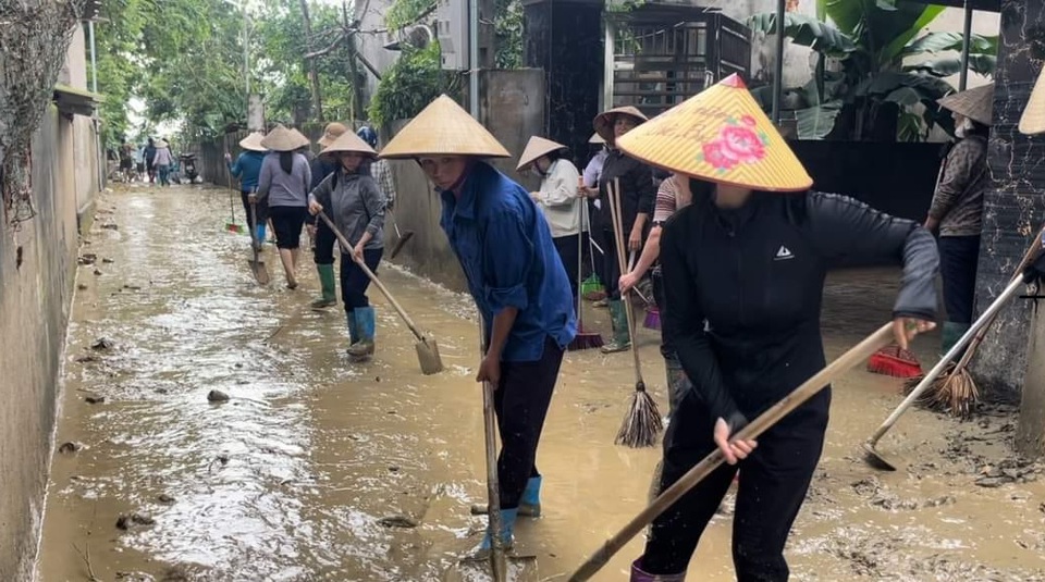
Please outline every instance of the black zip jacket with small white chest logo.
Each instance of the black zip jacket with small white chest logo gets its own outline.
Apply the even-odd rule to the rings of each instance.
[[[687,398],[735,425],[824,367],[829,269],[902,264],[892,315],[936,315],[932,235],[841,196],[757,193],[738,210],[701,196],[665,223],[660,258],[664,336],[693,384]]]

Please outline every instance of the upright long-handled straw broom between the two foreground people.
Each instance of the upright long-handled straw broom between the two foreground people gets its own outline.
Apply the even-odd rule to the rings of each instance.
[[[614,242],[617,247],[617,263],[623,273],[626,264],[624,260],[624,224],[620,216],[620,182],[614,179],[612,187],[608,184],[606,186],[614,225]],[[623,304],[628,319],[631,356],[635,358],[635,394],[631,395],[631,406],[628,407],[628,412],[624,416],[624,422],[620,423],[620,430],[617,431],[614,443],[631,448],[652,447],[656,445],[656,435],[664,429],[664,423],[661,420],[661,412],[656,408],[656,401],[646,392],[646,382],[642,381],[639,346],[635,337],[635,311],[630,298],[625,298]]]

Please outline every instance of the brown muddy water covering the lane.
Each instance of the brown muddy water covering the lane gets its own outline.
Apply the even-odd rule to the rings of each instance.
[[[82,249],[96,262],[79,268],[57,434],[77,449],[53,458],[38,579],[442,580],[484,527],[468,511],[485,492],[470,300],[382,264],[448,369],[420,374],[413,337],[376,289],[377,357],[349,363],[343,311],[307,306],[310,258],[290,292],[267,247],[273,284],[258,287],[246,236],[223,231],[225,195],[139,187],[101,199]],[[888,318],[896,280],[833,276],[829,356]],[[607,334],[605,313],[588,313]],[[663,404],[657,335],[640,336]],[[919,339],[923,361],[938,339]],[[630,362],[566,356],[538,457],[545,517],[516,530],[541,579],[565,580],[647,499],[657,449],[613,445]],[[824,458],[787,547],[792,578],[1045,580],[1045,485],[1040,466],[1011,453],[1013,411],[982,407],[959,422],[912,410],[878,447],[906,467],[878,473],[857,448],[899,387],[860,370],[835,385]],[[231,399],[208,403],[212,389]],[[721,512],[693,580],[734,578],[728,506]],[[626,580],[640,553],[636,540],[595,580]]]

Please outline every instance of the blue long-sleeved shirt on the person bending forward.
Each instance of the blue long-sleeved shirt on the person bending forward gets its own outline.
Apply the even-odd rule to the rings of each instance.
[[[565,349],[577,333],[569,281],[544,215],[526,189],[476,162],[459,200],[452,191],[440,195],[440,225],[465,271],[487,337],[497,313],[519,310],[501,359],[537,361],[546,337]]]

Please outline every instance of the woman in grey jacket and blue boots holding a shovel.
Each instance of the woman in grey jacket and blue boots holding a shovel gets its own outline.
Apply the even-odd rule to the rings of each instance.
[[[348,355],[357,361],[373,356],[374,313],[367,297],[370,277],[359,267],[377,272],[384,251],[384,195],[370,177],[367,165],[378,152],[345,132],[321,156],[337,161],[337,168],[308,195],[308,211],[324,211],[353,245],[341,249],[341,299],[348,324]]]

